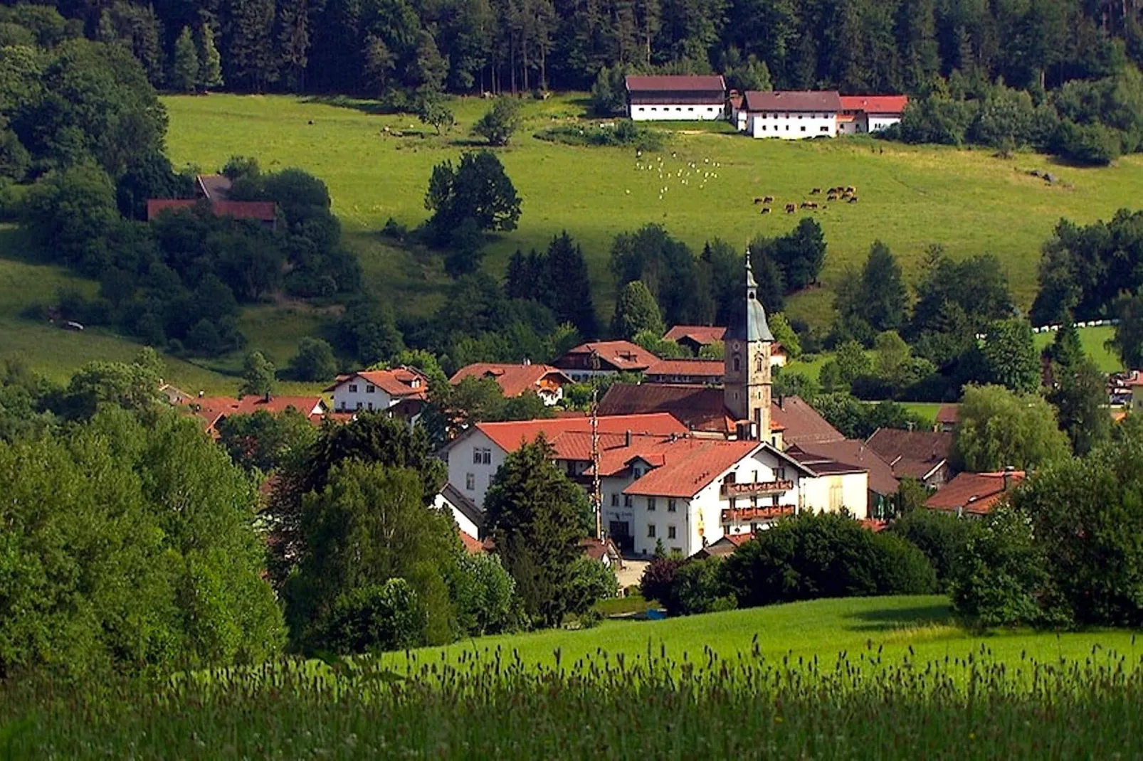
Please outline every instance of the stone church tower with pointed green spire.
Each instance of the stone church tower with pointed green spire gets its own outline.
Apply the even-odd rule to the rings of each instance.
[[[740,439],[770,440],[770,344],[774,335],[758,301],[758,283],[746,249],[746,288],[727,327],[722,398]]]

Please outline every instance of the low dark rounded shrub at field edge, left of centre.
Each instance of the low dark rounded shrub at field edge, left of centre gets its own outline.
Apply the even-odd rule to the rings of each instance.
[[[360,586],[334,602],[325,644],[336,652],[399,650],[424,640],[425,614],[403,578]]]

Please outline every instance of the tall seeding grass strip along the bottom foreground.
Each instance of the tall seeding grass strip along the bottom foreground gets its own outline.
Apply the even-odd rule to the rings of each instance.
[[[1143,752],[1143,658],[834,659],[710,648],[496,650],[315,668],[285,660],[161,686],[0,694],[0,747],[37,758],[1119,758]],[[6,736],[6,739],[5,739]]]

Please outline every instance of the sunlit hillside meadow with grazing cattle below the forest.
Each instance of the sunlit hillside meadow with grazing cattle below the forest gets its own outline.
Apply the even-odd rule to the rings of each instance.
[[[362,256],[370,285],[410,312],[439,303],[439,264],[374,233],[389,217],[410,226],[426,217],[423,199],[433,165],[455,160],[472,145],[467,133],[488,107],[486,101],[455,101],[458,126],[442,137],[408,114],[378,113],[371,102],[232,95],[163,102],[176,166],[215,170],[229,157],[246,154],[266,169],[298,166],[314,173],[328,183],[334,211]],[[607,261],[616,233],[657,222],[695,247],[716,237],[744,246],[753,234],[788,231],[798,218],[762,216],[753,198],[801,201],[812,187],[836,184],[857,186],[861,201],[816,213],[830,246],[824,287],[794,298],[791,313],[829,322],[833,285],[876,239],[893,248],[910,278],[930,243],[958,257],[991,251],[1005,262],[1014,294],[1026,307],[1034,296],[1040,245],[1056,222],[1108,218],[1129,205],[1143,183],[1140,157],[1112,168],[1077,169],[1036,154],[1005,160],[980,150],[864,139],[782,143],[687,130],[674,134],[657,155],[648,154],[640,168],[631,150],[531,137],[553,122],[582,117],[584,109],[575,96],[525,103],[525,127],[511,147],[499,151],[523,199],[523,215],[519,229],[491,247],[488,266],[501,272],[517,247],[542,247],[568,230],[589,257],[601,313],[609,312],[614,295]],[[692,162],[697,170],[680,174]],[[1061,182],[1047,185],[1030,177],[1030,169],[1050,169]]]

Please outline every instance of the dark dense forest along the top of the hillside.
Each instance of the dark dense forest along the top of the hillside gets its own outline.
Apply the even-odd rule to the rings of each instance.
[[[1044,93],[1143,62],[1135,0],[57,0],[57,35],[121,42],[152,85],[238,91],[588,89],[604,67],[732,86]],[[27,8],[19,14],[40,13]],[[18,23],[23,23],[22,21]],[[57,25],[58,26],[58,25]],[[0,25],[0,43],[27,40]],[[207,71],[194,77],[194,66]],[[190,73],[190,77],[187,75]]]

